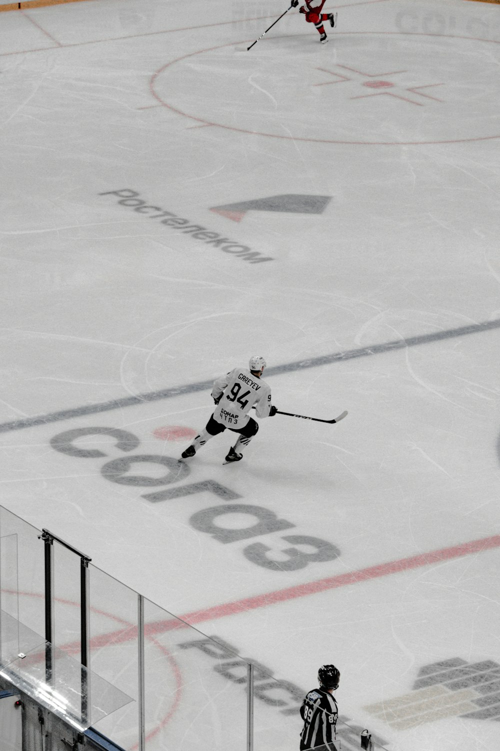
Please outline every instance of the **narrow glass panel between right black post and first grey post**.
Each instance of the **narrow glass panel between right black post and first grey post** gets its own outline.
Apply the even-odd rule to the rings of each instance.
[[[90,565],[89,667],[133,698],[95,728],[129,751],[139,742],[137,594]]]

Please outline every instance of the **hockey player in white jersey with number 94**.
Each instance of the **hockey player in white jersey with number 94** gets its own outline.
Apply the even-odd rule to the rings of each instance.
[[[264,358],[253,355],[248,368],[234,368],[214,382],[211,392],[217,405],[214,414],[199,436],[182,452],[183,459],[193,457],[197,448],[227,428],[240,435],[229,449],[226,462],[238,462],[243,457],[239,450],[247,446],[259,430],[257,422],[248,414],[250,409],[255,407],[258,418],[276,415],[277,409],[271,405],[271,388],[262,380]]]

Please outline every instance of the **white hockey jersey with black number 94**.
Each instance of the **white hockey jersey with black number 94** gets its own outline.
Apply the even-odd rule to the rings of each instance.
[[[214,419],[229,428],[245,427],[250,409],[256,408],[258,418],[268,418],[271,409],[271,388],[246,368],[234,368],[214,382],[212,397],[222,399],[214,409]]]

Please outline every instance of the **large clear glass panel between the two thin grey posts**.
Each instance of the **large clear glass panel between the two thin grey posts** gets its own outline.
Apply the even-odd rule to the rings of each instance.
[[[145,600],[147,751],[245,751],[247,663]]]

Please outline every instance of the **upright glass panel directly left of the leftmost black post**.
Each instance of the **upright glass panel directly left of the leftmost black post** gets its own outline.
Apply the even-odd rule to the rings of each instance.
[[[43,541],[31,524],[0,507],[0,535],[17,538],[19,621],[37,634],[45,634]],[[14,578],[11,578],[13,585]],[[3,602],[3,599],[2,599]],[[12,611],[11,611],[12,614]]]

